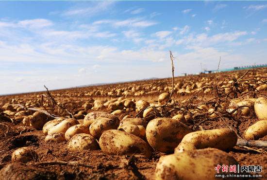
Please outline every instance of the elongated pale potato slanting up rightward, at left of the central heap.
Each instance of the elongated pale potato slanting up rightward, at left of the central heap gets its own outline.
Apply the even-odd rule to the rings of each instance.
[[[78,125],[79,122],[76,119],[68,118],[60,122],[59,124],[52,126],[48,129],[48,134],[53,132],[62,132],[65,133],[67,129],[71,126]]]

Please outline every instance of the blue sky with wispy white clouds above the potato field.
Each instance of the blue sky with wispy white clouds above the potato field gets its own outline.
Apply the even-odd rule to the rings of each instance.
[[[0,1],[0,94],[267,63],[267,1]]]

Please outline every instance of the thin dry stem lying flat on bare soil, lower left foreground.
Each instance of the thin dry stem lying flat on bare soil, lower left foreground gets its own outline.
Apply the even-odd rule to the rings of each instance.
[[[47,161],[47,162],[33,162],[33,163],[28,163],[29,165],[69,165],[69,166],[83,166],[83,167],[88,167],[88,168],[94,168],[94,166],[83,163],[83,162],[78,162],[78,161]]]

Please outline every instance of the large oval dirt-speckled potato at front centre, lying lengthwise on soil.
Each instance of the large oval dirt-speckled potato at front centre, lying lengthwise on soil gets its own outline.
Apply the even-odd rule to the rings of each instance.
[[[99,140],[101,150],[112,155],[141,154],[150,157],[148,144],[141,138],[119,130],[103,132]]]

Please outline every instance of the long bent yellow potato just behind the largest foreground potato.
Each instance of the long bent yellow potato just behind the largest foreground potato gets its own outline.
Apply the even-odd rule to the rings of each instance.
[[[237,135],[232,129],[211,129],[186,134],[175,148],[175,153],[214,147],[221,150],[231,149],[237,142]]]

